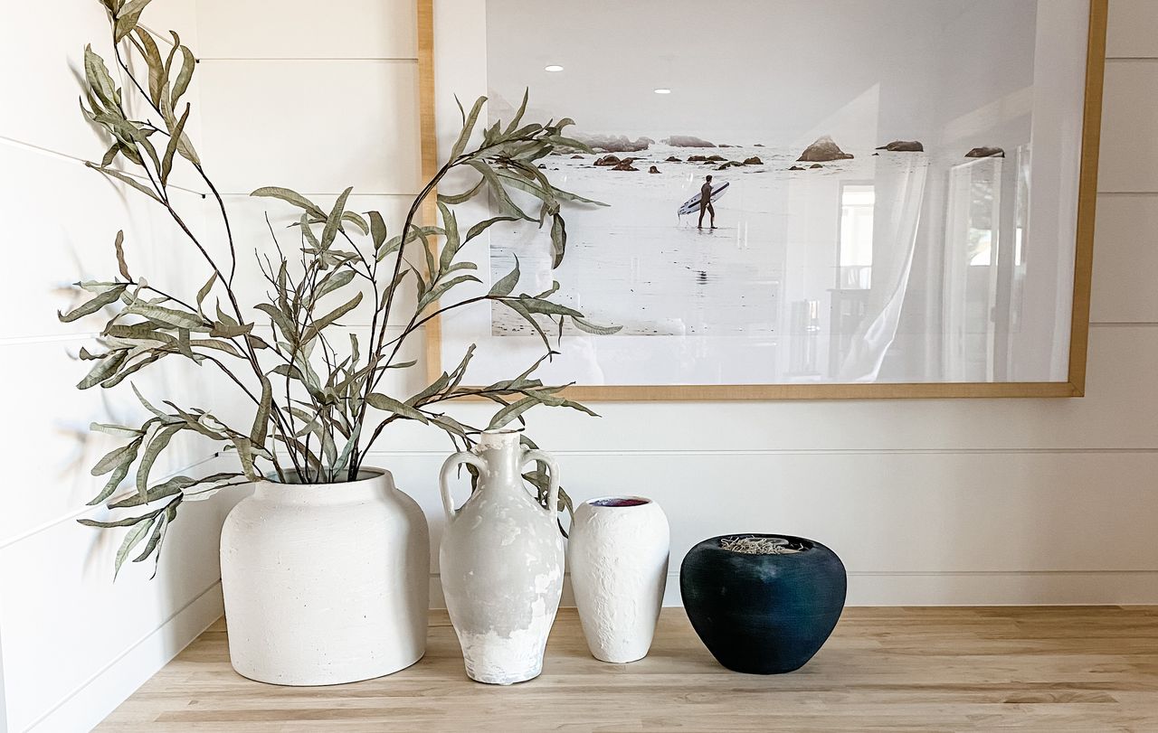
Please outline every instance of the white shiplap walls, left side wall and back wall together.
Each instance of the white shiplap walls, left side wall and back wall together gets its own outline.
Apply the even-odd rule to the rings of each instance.
[[[265,184],[321,200],[354,185],[354,206],[398,221],[419,180],[411,0],[331,0],[325,13],[309,0],[285,0],[277,13],[261,0],[153,5],[149,24],[171,21],[203,59],[200,150],[229,206],[249,216],[243,236],[262,237],[264,206],[245,194]],[[118,538],[73,521],[101,514],[82,504],[103,446],[82,443],[79,428],[125,410],[126,397],[72,390],[83,368],[69,355],[98,325],[57,324],[53,311],[66,305],[57,288],[108,272],[112,235],[130,220],[131,262],[182,268],[163,222],[76,162],[100,150],[63,65],[104,37],[95,1],[79,7],[23,3],[0,25],[2,88],[21,101],[0,106],[0,201],[6,213],[23,209],[5,217],[21,246],[0,275],[10,390],[0,699],[13,731],[83,728],[220,614],[227,503],[182,517],[152,583],[129,572],[111,585]],[[1158,602],[1156,24],[1158,2],[1112,0],[1086,398],[608,403],[595,406],[599,421],[532,413],[535,438],[558,454],[577,498],[632,491],[666,508],[670,602],[691,543],[761,530],[830,545],[849,568],[853,604]],[[405,428],[381,446],[373,462],[423,504],[437,542],[435,475],[448,444]],[[186,462],[201,457],[190,449]]]

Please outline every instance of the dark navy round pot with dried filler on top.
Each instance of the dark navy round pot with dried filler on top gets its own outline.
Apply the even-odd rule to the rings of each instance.
[[[746,554],[721,540],[786,540],[789,554]],[[680,594],[691,625],[735,672],[799,669],[828,639],[844,608],[844,563],[820,542],[787,534],[725,534],[691,548]]]

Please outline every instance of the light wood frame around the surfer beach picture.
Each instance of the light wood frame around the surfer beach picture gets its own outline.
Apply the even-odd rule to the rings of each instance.
[[[511,0],[504,0],[510,2]],[[743,0],[736,0],[743,1]],[[961,0],[967,2],[968,0]],[[1032,0],[1027,0],[1032,1]],[[1045,1],[1045,0],[1039,0]],[[1077,0],[1073,0],[1077,1]],[[1071,291],[1069,303],[1069,342],[1064,349],[1064,372],[1057,379],[988,382],[848,382],[848,383],[776,383],[776,384],[577,384],[566,390],[570,399],[587,401],[631,400],[821,400],[821,399],[899,399],[899,398],[1058,398],[1082,397],[1085,393],[1086,354],[1089,349],[1090,289],[1093,259],[1094,208],[1097,202],[1098,147],[1101,128],[1101,102],[1105,72],[1106,17],[1108,0],[1085,0],[1089,25],[1085,38],[1084,77],[1080,89],[1079,129],[1080,154],[1073,165],[1076,175],[1076,225],[1073,227],[1072,282],[1058,283]],[[477,30],[479,6],[486,0],[416,0],[418,18],[418,74],[419,114],[422,121],[422,169],[423,178],[433,177],[439,165],[438,146],[440,118],[453,108],[449,86],[439,80],[459,74],[464,67],[477,80],[479,67],[485,79],[486,38]],[[588,8],[598,13],[598,8]],[[716,8],[716,12],[721,12]],[[468,20],[455,20],[460,14]],[[485,24],[484,24],[485,25]],[[464,34],[464,28],[476,28],[475,35]],[[574,31],[578,32],[578,31]],[[1040,32],[1040,31],[1039,31]],[[598,47],[599,39],[591,43]],[[614,49],[607,49],[614,53]],[[726,51],[718,51],[719,53]],[[536,59],[542,60],[542,59]],[[469,84],[467,84],[469,87]],[[532,99],[536,89],[529,87]],[[447,99],[449,99],[449,105]],[[471,97],[472,99],[472,97]],[[468,99],[464,99],[464,104]],[[565,106],[565,105],[560,105]],[[441,111],[441,112],[440,112]],[[559,109],[569,114],[569,109]],[[455,124],[457,113],[454,114]],[[580,120],[581,121],[581,120]],[[1077,134],[1077,133],[1076,133]],[[442,134],[445,138],[445,133]],[[887,141],[881,141],[885,145]],[[446,145],[446,142],[444,142]],[[632,173],[646,176],[646,173]],[[802,173],[801,173],[802,175]],[[697,184],[698,185],[698,184]],[[578,193],[588,194],[578,190]],[[432,223],[437,217],[433,198],[424,209],[424,219]],[[569,254],[569,257],[577,257]],[[1062,314],[1064,316],[1064,314]],[[426,325],[426,363],[431,378],[445,369],[444,324],[433,319]],[[614,339],[617,336],[604,336]],[[564,347],[566,340],[564,340]],[[449,358],[450,355],[448,354]],[[453,356],[457,361],[457,353]],[[505,375],[510,377],[511,375]],[[471,382],[484,382],[476,379]]]

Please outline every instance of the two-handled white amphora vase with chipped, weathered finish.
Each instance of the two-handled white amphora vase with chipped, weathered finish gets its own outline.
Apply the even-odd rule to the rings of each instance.
[[[559,469],[547,453],[525,450],[519,432],[483,432],[475,452],[448,458],[440,476],[446,607],[467,675],[491,684],[538,676],[563,592],[563,536],[555,512]],[[523,486],[522,467],[535,460],[550,469],[550,510]],[[477,468],[479,479],[455,509],[449,482],[462,464]]]

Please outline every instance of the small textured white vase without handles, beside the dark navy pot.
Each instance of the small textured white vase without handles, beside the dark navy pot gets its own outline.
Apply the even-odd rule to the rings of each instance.
[[[576,509],[570,535],[571,585],[591,653],[614,662],[644,658],[667,584],[664,510],[642,496],[589,499]]]

